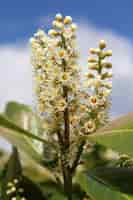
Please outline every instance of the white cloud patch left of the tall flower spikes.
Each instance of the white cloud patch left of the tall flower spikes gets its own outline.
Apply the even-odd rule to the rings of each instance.
[[[0,46],[0,109],[9,100],[31,104],[32,70],[27,47]]]

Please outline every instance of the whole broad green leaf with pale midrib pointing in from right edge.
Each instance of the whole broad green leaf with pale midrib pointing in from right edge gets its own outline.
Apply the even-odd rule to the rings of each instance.
[[[121,116],[88,139],[122,154],[133,156],[133,113]]]

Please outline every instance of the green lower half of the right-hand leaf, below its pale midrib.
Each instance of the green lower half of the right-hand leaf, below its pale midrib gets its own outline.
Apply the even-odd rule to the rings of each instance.
[[[133,129],[121,129],[87,136],[88,140],[133,157]]]

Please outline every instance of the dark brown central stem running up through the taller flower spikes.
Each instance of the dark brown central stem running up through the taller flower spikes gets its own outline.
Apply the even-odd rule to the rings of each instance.
[[[62,47],[66,49],[65,38],[61,34],[62,39]],[[62,59],[62,66],[64,72],[66,71],[67,63],[64,59]],[[63,86],[63,97],[65,98],[66,102],[68,103],[68,88],[67,86]],[[72,200],[72,174],[70,169],[70,163],[67,159],[67,154],[69,154],[69,147],[70,147],[70,124],[69,124],[69,109],[68,106],[64,110],[64,134],[61,135],[58,133],[58,140],[60,143],[60,151],[61,151],[61,167],[62,167],[62,174],[64,179],[64,192],[67,195],[68,200]]]

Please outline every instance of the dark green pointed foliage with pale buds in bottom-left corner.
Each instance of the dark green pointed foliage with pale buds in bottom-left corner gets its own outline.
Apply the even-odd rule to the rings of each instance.
[[[13,191],[11,191],[14,188]],[[8,191],[11,191],[8,193]],[[14,147],[2,179],[2,200],[25,197],[27,200],[46,200],[39,187],[23,176],[17,149]]]

